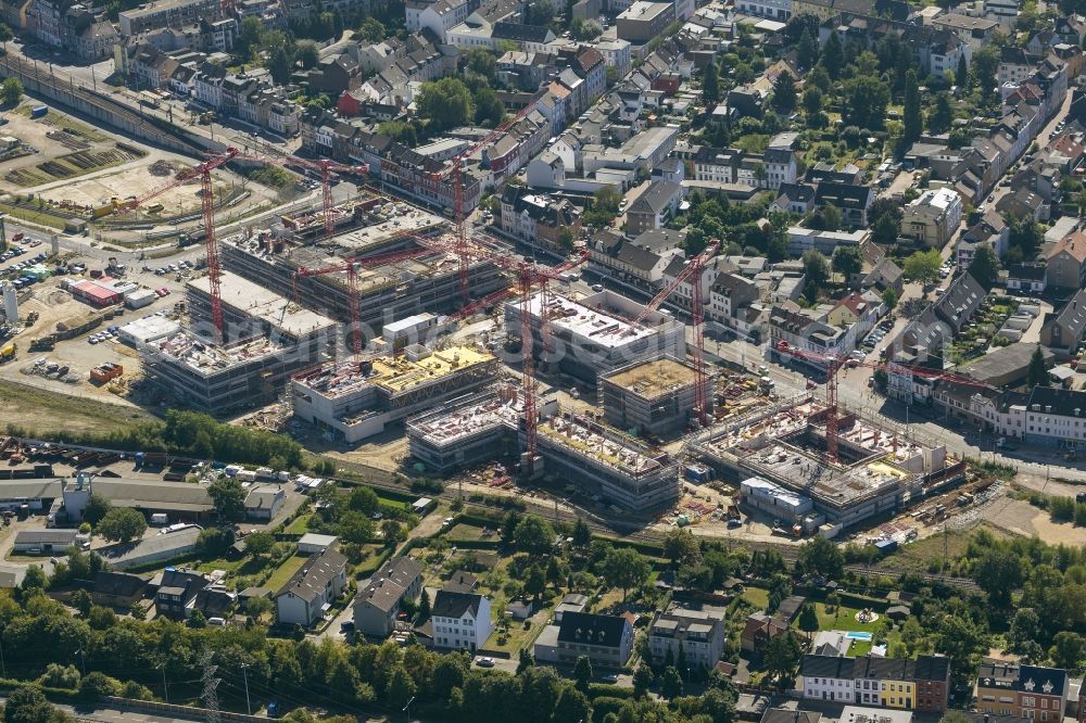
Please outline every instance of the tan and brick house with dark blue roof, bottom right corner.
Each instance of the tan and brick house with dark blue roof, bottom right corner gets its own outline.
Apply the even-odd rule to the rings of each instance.
[[[983,663],[976,673],[977,710],[992,715],[1062,721],[1071,680],[1060,668]]]

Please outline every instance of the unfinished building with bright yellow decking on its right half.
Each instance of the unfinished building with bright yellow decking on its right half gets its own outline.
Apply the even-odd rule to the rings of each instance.
[[[387,424],[490,383],[497,359],[470,346],[431,351],[408,346],[399,356],[327,365],[291,380],[291,404],[301,419],[331,430],[348,444]]]

